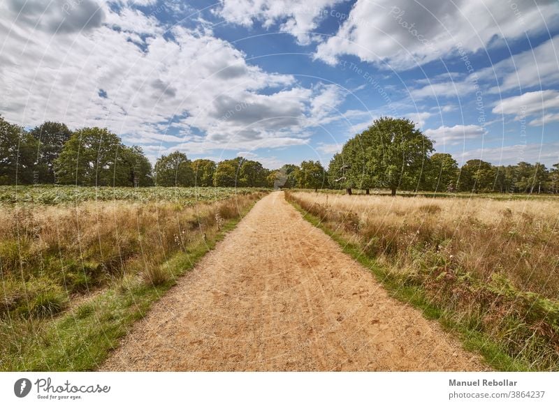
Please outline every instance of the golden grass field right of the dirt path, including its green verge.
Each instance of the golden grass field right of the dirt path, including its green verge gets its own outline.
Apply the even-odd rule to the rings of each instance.
[[[559,369],[558,200],[303,191],[287,199],[497,368]]]

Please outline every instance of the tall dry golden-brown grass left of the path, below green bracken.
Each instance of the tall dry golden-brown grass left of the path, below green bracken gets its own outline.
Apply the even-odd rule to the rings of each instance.
[[[261,197],[215,203],[84,202],[0,206],[0,317],[45,317],[76,296],[125,275],[168,278],[161,264],[203,243],[219,218],[235,218]]]

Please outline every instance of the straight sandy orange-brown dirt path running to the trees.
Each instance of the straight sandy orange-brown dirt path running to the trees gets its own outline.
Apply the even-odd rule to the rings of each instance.
[[[102,370],[484,370],[281,192],[136,324]]]

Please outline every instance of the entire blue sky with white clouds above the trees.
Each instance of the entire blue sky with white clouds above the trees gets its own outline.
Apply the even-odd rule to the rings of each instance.
[[[5,0],[0,114],[270,169],[405,116],[460,164],[550,166],[558,45],[556,1]]]

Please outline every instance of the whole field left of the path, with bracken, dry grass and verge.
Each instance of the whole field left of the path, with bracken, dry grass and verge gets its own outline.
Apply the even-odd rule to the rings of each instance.
[[[0,188],[0,370],[94,368],[262,195]]]

